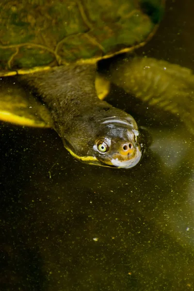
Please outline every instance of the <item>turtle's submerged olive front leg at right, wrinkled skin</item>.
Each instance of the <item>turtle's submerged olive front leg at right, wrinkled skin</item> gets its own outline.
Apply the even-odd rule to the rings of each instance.
[[[119,61],[111,81],[149,105],[174,113],[194,134],[194,74],[180,65],[152,58]]]

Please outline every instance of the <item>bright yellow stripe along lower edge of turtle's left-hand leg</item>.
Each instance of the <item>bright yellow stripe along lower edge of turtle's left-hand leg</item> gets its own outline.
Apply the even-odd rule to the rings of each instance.
[[[50,128],[49,124],[46,124],[44,121],[37,120],[34,121],[33,119],[18,116],[16,114],[6,112],[6,111],[0,111],[0,120],[15,123],[17,125],[23,125],[23,126],[32,126],[32,127],[38,127],[38,128]]]

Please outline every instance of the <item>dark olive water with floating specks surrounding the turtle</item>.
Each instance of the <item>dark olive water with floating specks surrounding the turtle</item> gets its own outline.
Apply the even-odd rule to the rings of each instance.
[[[194,2],[167,4],[137,53],[194,68]],[[109,101],[137,102],[116,88]],[[194,137],[141,102],[132,113],[153,144],[129,170],[76,162],[54,130],[1,123],[0,290],[194,290]]]

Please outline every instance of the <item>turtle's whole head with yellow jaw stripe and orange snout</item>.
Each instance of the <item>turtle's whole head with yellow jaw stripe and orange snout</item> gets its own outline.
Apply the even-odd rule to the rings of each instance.
[[[98,110],[92,116],[89,119],[87,115],[80,117],[70,139],[64,139],[69,152],[89,164],[125,169],[134,167],[142,158],[144,144],[133,117],[113,107],[106,113],[103,109],[102,112]]]

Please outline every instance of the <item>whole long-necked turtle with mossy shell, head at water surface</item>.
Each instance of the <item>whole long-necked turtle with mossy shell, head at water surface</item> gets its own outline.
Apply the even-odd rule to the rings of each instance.
[[[164,0],[1,0],[0,119],[53,128],[73,157],[128,169],[141,161],[144,134],[107,103],[110,83],[194,129],[194,75],[163,60],[131,57],[156,32]],[[113,60],[97,75],[100,60]]]

